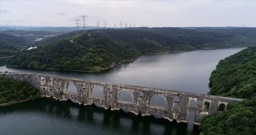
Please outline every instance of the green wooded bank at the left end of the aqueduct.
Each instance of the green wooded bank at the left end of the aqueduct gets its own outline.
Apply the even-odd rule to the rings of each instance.
[[[20,100],[33,100],[40,98],[40,94],[35,88],[20,80],[11,80],[0,77],[0,104],[16,102]]]

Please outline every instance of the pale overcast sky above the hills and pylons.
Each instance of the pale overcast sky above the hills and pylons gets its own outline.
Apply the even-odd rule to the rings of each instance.
[[[87,15],[87,26],[241,26],[256,27],[256,1],[61,1],[0,0],[0,24],[75,26]],[[82,22],[81,22],[82,23]],[[82,25],[81,25],[82,26]]]

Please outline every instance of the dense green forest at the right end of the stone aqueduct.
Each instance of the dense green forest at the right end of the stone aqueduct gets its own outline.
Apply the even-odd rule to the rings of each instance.
[[[204,135],[256,135],[256,47],[220,60],[209,86],[208,94],[247,100],[204,117]]]

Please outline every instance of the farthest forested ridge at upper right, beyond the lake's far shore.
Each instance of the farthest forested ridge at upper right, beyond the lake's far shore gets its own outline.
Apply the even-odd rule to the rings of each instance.
[[[232,35],[230,33],[222,33],[216,31],[197,31],[196,29],[185,29],[176,27],[137,27],[130,29],[151,31],[160,35],[169,36],[170,38],[180,40],[184,44],[193,46],[197,49],[256,46],[256,39],[246,37],[244,36],[245,34],[239,36]],[[247,32],[250,33],[250,31]]]

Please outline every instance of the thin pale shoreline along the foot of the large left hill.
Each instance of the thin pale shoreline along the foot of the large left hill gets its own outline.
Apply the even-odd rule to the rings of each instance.
[[[139,57],[138,57],[139,58]],[[76,72],[84,72],[84,73],[99,73],[99,72],[102,72],[102,71],[105,71],[107,69],[110,69],[112,67],[115,67],[115,66],[118,66],[124,62],[131,62],[131,61],[134,61],[134,60],[137,60],[138,58],[134,58],[132,60],[122,60],[119,64],[116,64],[114,66],[110,66],[110,67],[107,67],[107,68],[104,68],[100,71],[85,71],[85,70],[69,70],[69,69],[55,69],[55,68],[32,68],[32,67],[25,67],[25,68],[30,68],[30,69],[45,69],[45,70],[59,70],[59,71],[76,71]],[[22,66],[11,66],[11,65],[5,65],[6,67],[22,67]]]

